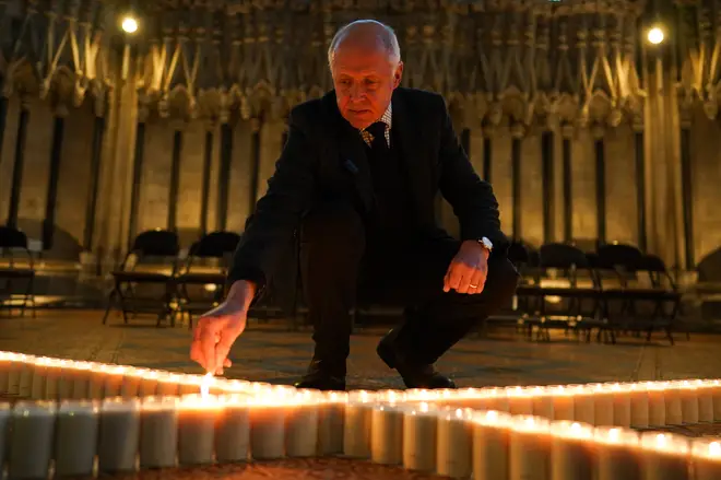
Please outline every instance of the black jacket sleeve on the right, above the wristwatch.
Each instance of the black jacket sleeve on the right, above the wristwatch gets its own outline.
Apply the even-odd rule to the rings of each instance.
[[[437,96],[440,125],[440,192],[453,208],[461,226],[461,239],[487,237],[494,251],[504,253],[508,239],[500,230],[498,201],[490,184],[482,180],[473,169],[458,141],[453,125],[441,96]]]

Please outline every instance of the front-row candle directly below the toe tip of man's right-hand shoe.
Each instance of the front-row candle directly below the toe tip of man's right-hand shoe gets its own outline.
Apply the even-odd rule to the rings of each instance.
[[[446,409],[438,417],[436,471],[452,478],[473,472],[473,410]]]

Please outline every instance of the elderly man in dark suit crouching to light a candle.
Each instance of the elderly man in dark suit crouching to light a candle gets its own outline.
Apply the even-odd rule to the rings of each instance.
[[[405,305],[378,344],[409,388],[453,388],[434,363],[512,296],[498,204],[459,145],[441,96],[400,87],[393,31],[362,20],[328,52],[334,90],[293,109],[287,143],[235,254],[227,298],[198,323],[191,358],[231,365],[251,302],[296,231],[315,354],[295,385],[344,389],[356,292]],[[461,239],[436,225],[453,207]]]

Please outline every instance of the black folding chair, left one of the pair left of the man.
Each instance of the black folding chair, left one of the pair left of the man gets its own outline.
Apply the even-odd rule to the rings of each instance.
[[[113,301],[116,300],[126,324],[129,314],[134,316],[138,313],[156,313],[158,327],[166,317],[169,317],[170,325],[175,326],[174,277],[179,251],[180,244],[175,232],[158,229],[138,235],[120,268],[113,272],[115,286],[108,297],[103,324],[107,323]],[[141,295],[141,286],[143,293],[152,291],[154,286],[155,293],[157,286],[161,292]]]

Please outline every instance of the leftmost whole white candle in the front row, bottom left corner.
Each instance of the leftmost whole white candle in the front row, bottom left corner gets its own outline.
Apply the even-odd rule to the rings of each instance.
[[[52,457],[56,403],[21,401],[12,412],[8,477],[46,479]]]

